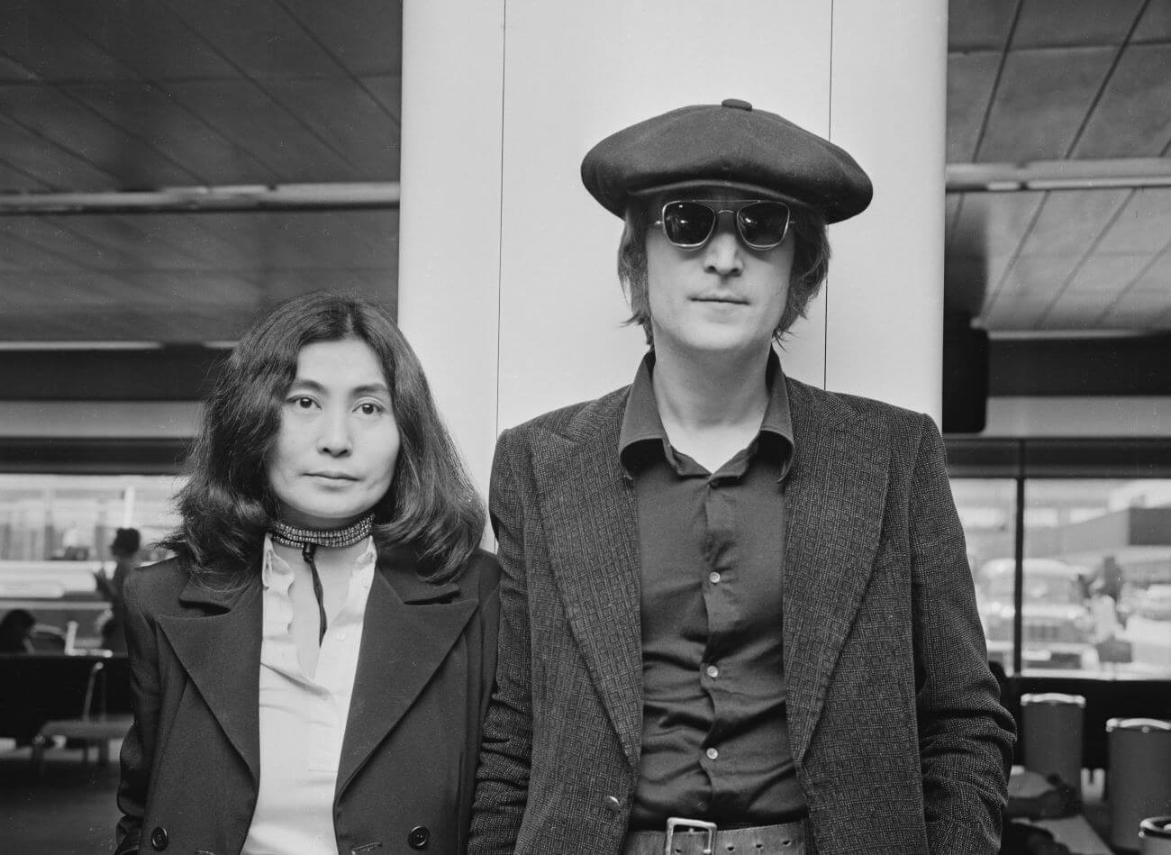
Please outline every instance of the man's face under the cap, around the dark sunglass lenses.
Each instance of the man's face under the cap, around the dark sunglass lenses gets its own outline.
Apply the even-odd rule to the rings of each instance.
[[[655,221],[664,203],[694,199],[737,210],[745,196],[727,190],[653,198]],[[646,288],[657,350],[752,355],[766,350],[780,323],[793,269],[793,230],[771,249],[753,249],[737,233],[732,213],[698,249],[673,246],[658,226],[646,233]]]

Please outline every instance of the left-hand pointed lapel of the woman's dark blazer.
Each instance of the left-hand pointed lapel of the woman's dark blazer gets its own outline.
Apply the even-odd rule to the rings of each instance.
[[[179,601],[212,610],[158,623],[228,741],[260,780],[260,642],[262,606],[255,581],[221,591],[187,582]],[[219,611],[219,609],[224,609]]]

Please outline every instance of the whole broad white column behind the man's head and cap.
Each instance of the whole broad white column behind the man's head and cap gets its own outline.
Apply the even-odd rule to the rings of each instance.
[[[404,8],[399,321],[482,486],[500,429],[629,383],[644,350],[622,326],[622,224],[582,187],[582,156],[727,97],[828,136],[876,184],[871,211],[830,228],[830,278],[786,371],[938,417],[941,5],[458,6]],[[443,227],[453,210],[472,234]]]

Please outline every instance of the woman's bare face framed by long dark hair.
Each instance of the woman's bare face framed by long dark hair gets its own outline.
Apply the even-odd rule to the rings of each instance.
[[[340,338],[301,348],[268,459],[281,519],[349,525],[386,494],[398,449],[390,389],[370,346]]]

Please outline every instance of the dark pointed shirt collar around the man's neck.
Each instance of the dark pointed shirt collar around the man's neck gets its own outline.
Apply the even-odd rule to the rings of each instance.
[[[618,435],[618,457],[628,476],[634,474],[635,463],[639,452],[645,449],[667,445],[666,430],[659,418],[658,404],[655,401],[655,388],[651,377],[655,372],[655,351],[648,350],[635,374],[630,387],[626,409],[622,416],[622,432]],[[769,433],[781,440],[786,449],[781,478],[788,474],[796,452],[793,439],[793,416],[789,409],[789,392],[785,384],[785,372],[776,351],[769,348],[768,365],[765,368],[765,383],[768,385],[768,404],[760,423],[760,433]]]

